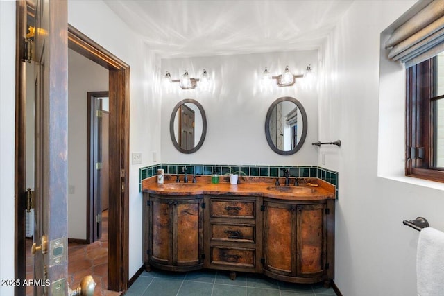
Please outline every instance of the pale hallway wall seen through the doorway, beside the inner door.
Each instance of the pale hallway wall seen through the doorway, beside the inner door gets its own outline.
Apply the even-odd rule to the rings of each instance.
[[[68,50],[68,237],[87,239],[87,92],[108,91],[108,69]]]

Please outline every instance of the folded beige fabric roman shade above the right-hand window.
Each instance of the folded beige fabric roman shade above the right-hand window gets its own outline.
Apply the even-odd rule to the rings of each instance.
[[[444,1],[434,0],[393,31],[386,42],[388,58],[406,67],[444,51]]]

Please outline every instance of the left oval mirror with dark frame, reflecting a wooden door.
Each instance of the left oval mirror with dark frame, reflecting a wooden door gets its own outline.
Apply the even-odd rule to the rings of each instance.
[[[174,107],[169,121],[169,133],[174,147],[181,153],[194,153],[207,134],[207,117],[202,105],[192,98]]]

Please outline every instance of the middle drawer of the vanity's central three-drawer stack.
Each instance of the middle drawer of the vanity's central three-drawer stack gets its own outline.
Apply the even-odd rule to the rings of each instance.
[[[255,243],[255,226],[212,224],[210,229],[212,241],[237,241]]]

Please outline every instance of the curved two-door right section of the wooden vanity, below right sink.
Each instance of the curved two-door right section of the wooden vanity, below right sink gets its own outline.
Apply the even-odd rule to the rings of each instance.
[[[334,200],[264,199],[263,272],[311,284],[334,277]]]

